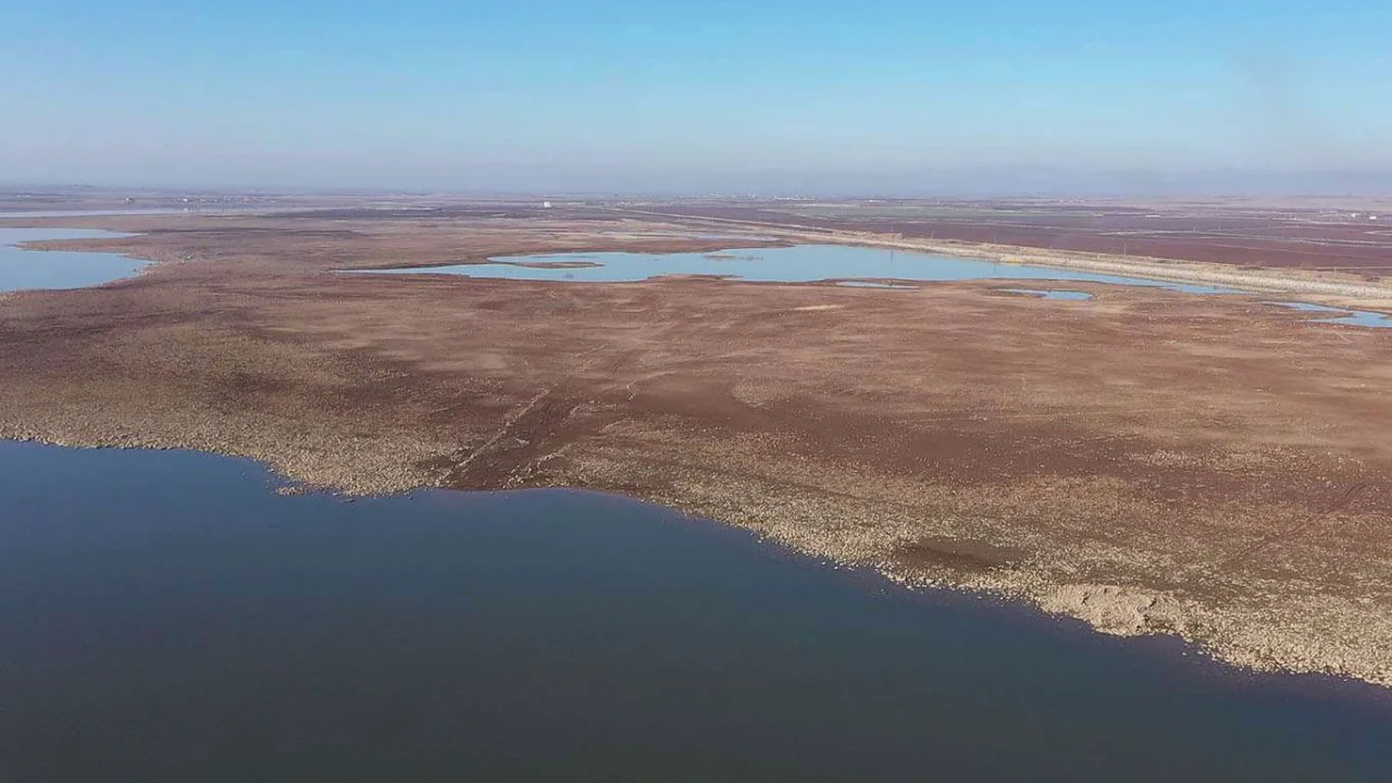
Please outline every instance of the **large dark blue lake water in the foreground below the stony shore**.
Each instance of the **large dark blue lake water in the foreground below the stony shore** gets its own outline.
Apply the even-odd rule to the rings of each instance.
[[[0,442],[0,780],[1385,782],[1386,691],[612,496]]]

